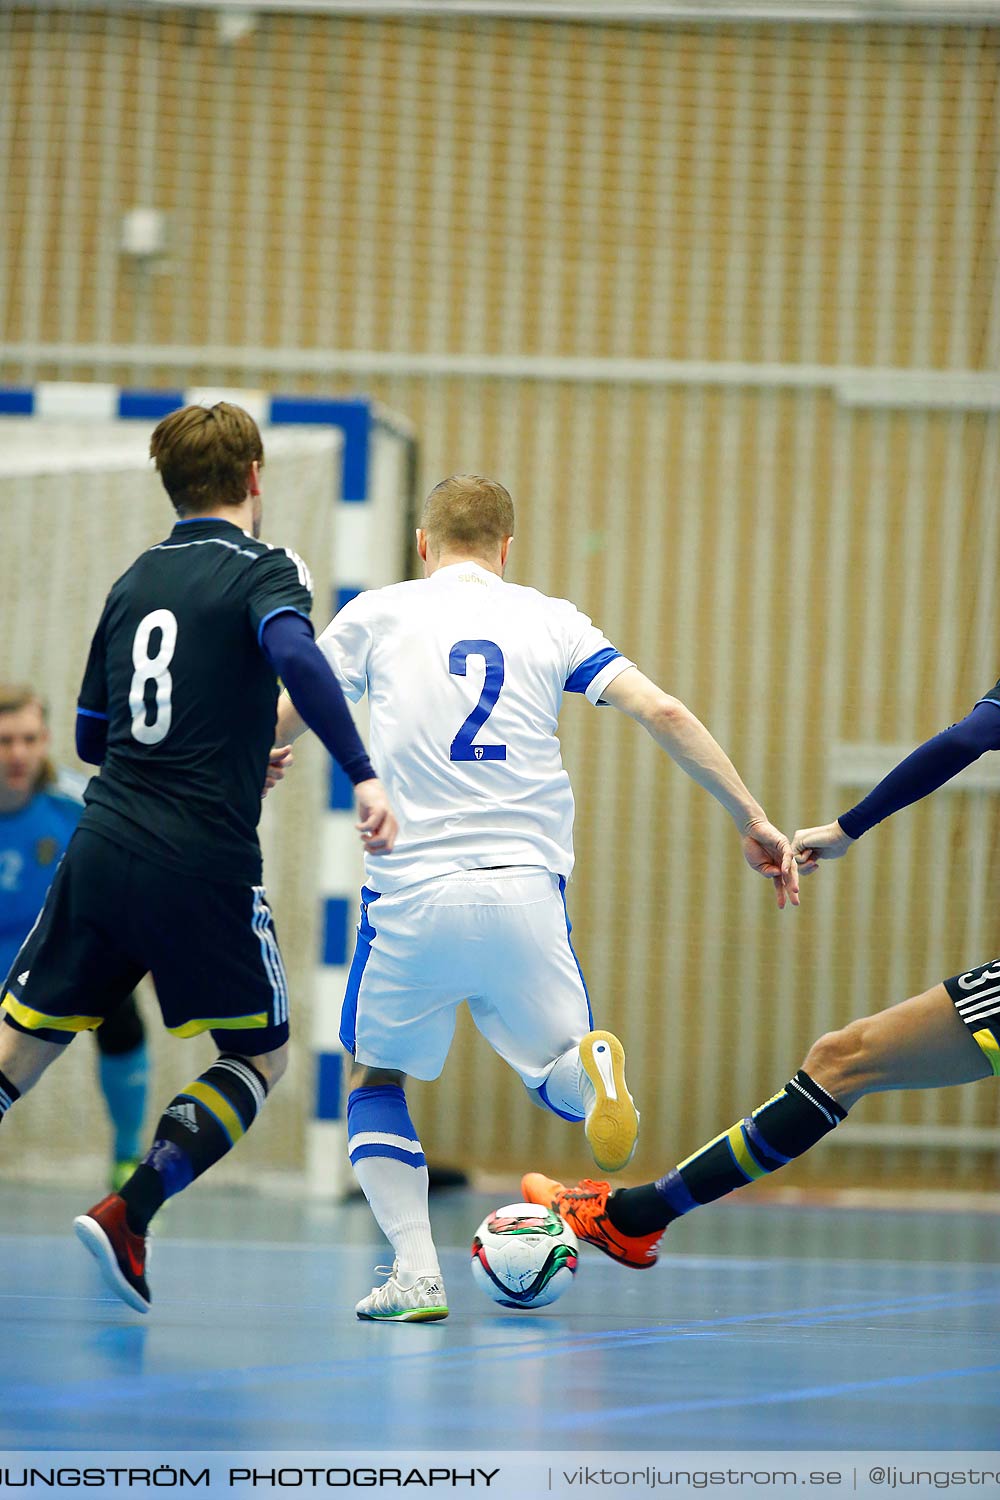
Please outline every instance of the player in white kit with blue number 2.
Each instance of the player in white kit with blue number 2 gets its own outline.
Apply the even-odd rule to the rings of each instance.
[[[513,531],[502,484],[444,480],[417,531],[426,578],[358,596],[318,642],[346,698],[369,694],[372,756],[399,818],[394,849],[366,864],[340,1022],[354,1056],[348,1150],[396,1257],[357,1306],[366,1318],[448,1311],[403,1086],[438,1077],[462,1000],[541,1106],[586,1122],[598,1166],[621,1170],[634,1149],[622,1047],[594,1030],[570,942],[565,692],[637,718],[732,814],[778,904],[798,903],[789,842],[699,720],[568,600],[504,582]],[[282,699],[277,742],[303,728]]]

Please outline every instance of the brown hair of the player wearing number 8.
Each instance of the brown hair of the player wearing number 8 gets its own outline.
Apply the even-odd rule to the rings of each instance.
[[[253,417],[241,406],[181,406],[163,417],[150,438],[163,489],[178,516],[238,506],[246,498],[250,464],[264,462],[264,444]]]

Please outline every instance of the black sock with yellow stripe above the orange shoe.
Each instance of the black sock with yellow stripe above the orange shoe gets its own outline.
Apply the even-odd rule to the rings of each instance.
[[[702,1203],[714,1203],[784,1167],[843,1119],[844,1106],[799,1071],[748,1119],[723,1131],[666,1178],[642,1188],[619,1188],[607,1202],[607,1216],[622,1234],[652,1234]]]

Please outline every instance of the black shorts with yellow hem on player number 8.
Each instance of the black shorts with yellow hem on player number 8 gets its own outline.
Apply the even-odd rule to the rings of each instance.
[[[7,975],[4,1020],[69,1042],[100,1026],[145,974],[174,1036],[210,1030],[243,1056],[288,1041],[288,982],[264,886],[163,870],[79,828]]]

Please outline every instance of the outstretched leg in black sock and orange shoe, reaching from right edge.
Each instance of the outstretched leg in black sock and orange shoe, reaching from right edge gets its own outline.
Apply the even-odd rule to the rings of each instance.
[[[966,998],[936,984],[900,1005],[820,1036],[780,1094],[723,1131],[657,1182],[612,1192],[606,1182],[564,1188],[540,1173],[522,1179],[532,1203],[556,1209],[577,1233],[612,1258],[645,1269],[663,1232],[691,1209],[712,1203],[804,1155],[867,1094],[942,1089],[1000,1072],[1000,1042],[990,987],[997,975],[973,970]],[[954,984],[955,981],[949,981]],[[978,984],[987,1000],[978,1000]],[[957,1010],[963,1005],[963,1014]],[[975,1017],[987,1011],[988,1022]],[[976,1028],[981,1029],[976,1029]]]

